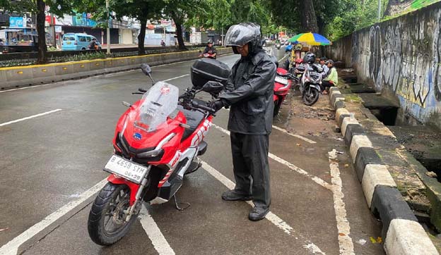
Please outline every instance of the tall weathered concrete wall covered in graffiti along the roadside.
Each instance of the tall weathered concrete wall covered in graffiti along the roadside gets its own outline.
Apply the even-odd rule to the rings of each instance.
[[[352,66],[359,82],[399,99],[401,111],[441,128],[441,2],[354,32],[329,58]]]

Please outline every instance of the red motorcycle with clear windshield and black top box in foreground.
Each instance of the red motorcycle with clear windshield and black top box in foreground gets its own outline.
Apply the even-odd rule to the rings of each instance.
[[[152,82],[151,68],[143,64],[143,73]],[[162,204],[175,198],[184,175],[193,173],[205,153],[204,141],[215,111],[208,102],[195,99],[199,92],[216,98],[223,85],[206,84],[209,80],[225,82],[230,69],[224,63],[203,58],[192,66],[193,87],[178,96],[179,89],[167,82],[157,82],[122,114],[114,133],[114,154],[103,170],[110,173],[108,182],[93,202],[88,218],[88,232],[96,244],[110,245],[129,231],[143,201]],[[188,206],[187,206],[188,207]]]

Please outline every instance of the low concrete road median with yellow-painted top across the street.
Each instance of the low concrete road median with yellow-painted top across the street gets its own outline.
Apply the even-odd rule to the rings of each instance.
[[[218,55],[233,53],[231,48],[218,49]],[[0,68],[0,90],[79,79],[139,68],[141,63],[158,66],[199,58],[199,51],[180,51],[144,56],[93,59],[47,65]]]

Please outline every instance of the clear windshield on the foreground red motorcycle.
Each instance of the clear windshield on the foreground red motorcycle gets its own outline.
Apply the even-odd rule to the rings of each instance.
[[[156,82],[143,94],[142,104],[134,125],[147,132],[155,131],[176,110],[179,89],[167,82]]]

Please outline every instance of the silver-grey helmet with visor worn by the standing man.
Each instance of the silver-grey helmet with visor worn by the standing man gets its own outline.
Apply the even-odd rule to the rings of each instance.
[[[232,25],[225,35],[225,45],[233,46],[233,51],[237,54],[235,46],[244,46],[249,43],[250,53],[255,53],[261,49],[260,26],[254,23],[240,23]]]

